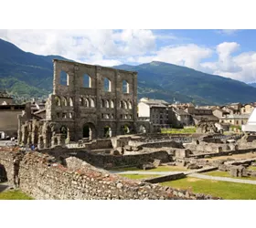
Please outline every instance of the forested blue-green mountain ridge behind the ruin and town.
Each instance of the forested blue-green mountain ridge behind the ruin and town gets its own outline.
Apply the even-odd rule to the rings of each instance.
[[[16,97],[47,97],[52,92],[52,59],[72,61],[57,55],[25,52],[3,39],[0,39],[0,49],[0,88],[7,88]],[[161,61],[137,66],[123,64],[114,68],[138,72],[138,98],[161,98],[169,102],[176,99],[210,105],[246,103],[256,97],[256,88],[243,82]]]

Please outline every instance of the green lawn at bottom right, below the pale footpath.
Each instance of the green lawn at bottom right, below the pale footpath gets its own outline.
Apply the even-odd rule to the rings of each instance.
[[[226,200],[256,200],[256,185],[226,181],[211,181],[197,178],[184,178],[162,183],[176,189],[189,189],[191,192],[210,194]]]

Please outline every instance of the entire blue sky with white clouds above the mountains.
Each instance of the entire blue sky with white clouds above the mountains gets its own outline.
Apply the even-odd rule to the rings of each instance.
[[[37,55],[116,66],[163,61],[256,81],[256,30],[0,30],[0,38]]]

